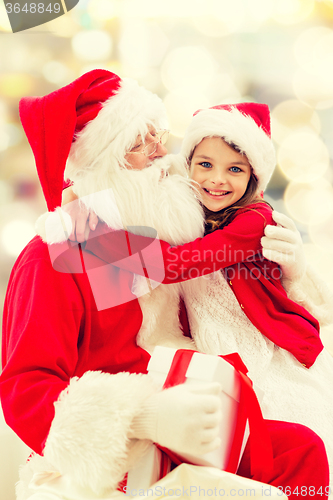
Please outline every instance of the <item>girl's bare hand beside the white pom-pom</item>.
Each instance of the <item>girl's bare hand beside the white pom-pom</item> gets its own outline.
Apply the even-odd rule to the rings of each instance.
[[[89,236],[90,229],[94,231],[98,224],[98,217],[94,212],[89,211],[73,192],[71,187],[63,190],[62,209],[67,212],[72,219],[72,232],[69,239],[82,243]]]

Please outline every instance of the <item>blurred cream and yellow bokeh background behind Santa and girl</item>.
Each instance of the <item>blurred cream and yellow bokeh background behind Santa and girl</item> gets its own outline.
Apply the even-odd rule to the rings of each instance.
[[[46,210],[18,101],[93,68],[136,78],[164,100],[170,152],[196,109],[267,103],[278,158],[267,199],[294,219],[308,261],[333,289],[333,0],[80,0],[16,34],[0,3],[1,307],[15,258]],[[322,335],[333,353],[332,328]],[[0,498],[12,500],[27,450],[1,420],[0,436]]]

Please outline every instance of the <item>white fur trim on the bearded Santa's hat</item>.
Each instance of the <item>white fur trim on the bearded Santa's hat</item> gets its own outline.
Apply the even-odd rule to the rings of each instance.
[[[126,166],[126,152],[138,135],[145,137],[149,125],[168,128],[162,100],[135,80],[124,78],[117,93],[105,101],[96,118],[77,135],[65,178],[76,184],[83,177],[86,182],[91,178],[94,185],[103,185],[107,172],[116,173]]]

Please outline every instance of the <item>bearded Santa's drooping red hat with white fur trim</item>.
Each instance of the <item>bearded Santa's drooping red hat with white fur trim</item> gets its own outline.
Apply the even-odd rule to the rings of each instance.
[[[50,211],[61,204],[71,153],[68,178],[98,176],[101,157],[113,156],[116,161],[110,161],[108,168],[116,169],[149,125],[167,127],[164,105],[156,95],[134,80],[102,69],[44,97],[25,97],[19,109]]]

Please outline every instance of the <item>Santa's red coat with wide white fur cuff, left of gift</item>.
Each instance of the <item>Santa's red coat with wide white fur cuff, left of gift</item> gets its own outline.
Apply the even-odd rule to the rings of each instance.
[[[130,292],[132,280],[114,268],[117,293]],[[145,373],[149,355],[135,342],[142,313],[133,299],[98,311],[87,274],[55,271],[47,245],[36,237],[14,266],[5,302],[1,400],[7,423],[41,454],[62,393],[57,405],[65,411],[54,421],[53,453],[67,456],[69,470],[87,475],[87,483],[93,462],[101,489],[123,478],[131,418],[153,391],[147,377],[135,375]],[[65,442],[58,440],[59,425]]]

